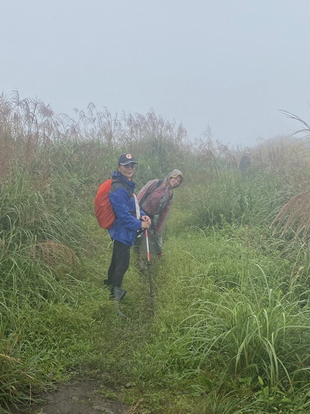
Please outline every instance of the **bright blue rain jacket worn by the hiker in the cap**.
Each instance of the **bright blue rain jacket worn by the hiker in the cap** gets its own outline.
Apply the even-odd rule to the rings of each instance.
[[[141,220],[136,219],[136,204],[133,197],[136,183],[128,180],[118,171],[112,173],[112,179],[115,181],[112,182],[109,198],[116,219],[108,231],[112,239],[132,246],[136,240],[137,230],[142,226]],[[140,214],[141,217],[145,215],[142,209]]]

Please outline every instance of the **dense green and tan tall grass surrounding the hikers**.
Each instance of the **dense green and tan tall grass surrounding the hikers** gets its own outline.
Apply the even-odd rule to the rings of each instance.
[[[189,144],[153,111],[90,104],[73,120],[2,95],[1,412],[88,375],[140,414],[308,413],[307,139],[260,142],[240,172],[241,148]],[[132,254],[124,321],[103,286],[111,242],[93,199],[125,151],[138,188],[173,168],[185,182],[152,262],[154,316]]]

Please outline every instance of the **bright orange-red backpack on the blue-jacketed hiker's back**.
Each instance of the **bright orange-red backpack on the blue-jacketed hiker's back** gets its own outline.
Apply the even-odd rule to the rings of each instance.
[[[109,193],[112,186],[112,178],[104,181],[98,188],[94,198],[94,213],[98,224],[109,230],[113,226],[115,215],[110,204]]]

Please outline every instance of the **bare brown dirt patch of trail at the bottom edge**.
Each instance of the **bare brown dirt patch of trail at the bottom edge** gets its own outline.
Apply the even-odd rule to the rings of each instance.
[[[100,393],[101,383],[79,379],[60,384],[52,393],[45,394],[44,404],[28,409],[13,410],[12,414],[130,414],[132,408],[119,401],[105,399]]]

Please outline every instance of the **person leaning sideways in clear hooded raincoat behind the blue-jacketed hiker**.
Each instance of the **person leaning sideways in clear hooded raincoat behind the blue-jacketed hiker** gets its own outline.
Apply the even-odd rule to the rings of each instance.
[[[153,255],[163,255],[162,233],[169,210],[174,201],[174,188],[180,186],[183,174],[179,170],[170,172],[164,180],[152,179],[138,193],[138,202],[152,224],[149,228],[149,250]],[[137,238],[141,253],[145,253],[145,236]]]

